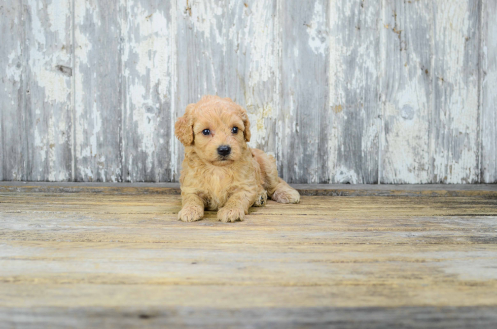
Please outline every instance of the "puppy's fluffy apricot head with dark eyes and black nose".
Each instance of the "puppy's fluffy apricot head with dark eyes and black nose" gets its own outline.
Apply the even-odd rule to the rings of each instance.
[[[203,96],[189,104],[174,125],[176,137],[204,161],[226,166],[238,160],[250,141],[250,122],[231,98]]]

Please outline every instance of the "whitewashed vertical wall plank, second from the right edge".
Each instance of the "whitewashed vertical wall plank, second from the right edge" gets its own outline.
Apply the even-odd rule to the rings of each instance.
[[[434,2],[432,182],[475,183],[479,1]]]

